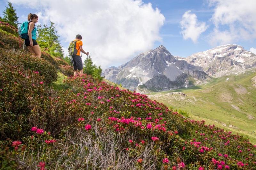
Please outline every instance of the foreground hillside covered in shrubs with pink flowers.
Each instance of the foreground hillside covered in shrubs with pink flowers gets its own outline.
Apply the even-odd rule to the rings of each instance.
[[[68,76],[61,59],[34,58],[1,29],[0,44],[1,169],[256,168],[247,137],[90,75]]]

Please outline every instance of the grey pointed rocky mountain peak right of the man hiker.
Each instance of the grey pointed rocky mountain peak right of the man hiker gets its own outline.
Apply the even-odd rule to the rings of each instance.
[[[123,66],[106,69],[103,75],[106,79],[117,84],[121,83],[130,90],[135,90],[152,78],[150,83],[148,82],[150,88],[170,89],[186,86],[187,80],[184,75],[189,70],[203,70],[203,68],[189,64],[181,58],[176,59],[161,45],[139,54]]]

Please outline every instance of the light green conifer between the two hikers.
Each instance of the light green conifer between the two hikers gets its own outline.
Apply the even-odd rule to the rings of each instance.
[[[49,27],[47,27],[47,25],[38,25],[37,30],[38,36],[36,41],[39,46],[49,54],[63,58],[64,52],[60,45],[60,36],[57,35],[58,32],[56,31],[54,23],[51,22],[51,26]]]

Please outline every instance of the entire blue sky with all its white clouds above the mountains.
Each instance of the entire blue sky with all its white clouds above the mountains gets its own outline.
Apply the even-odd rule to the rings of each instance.
[[[65,51],[75,34],[82,34],[85,50],[103,68],[126,63],[161,44],[182,57],[224,44],[256,51],[255,0],[11,2],[20,22],[31,12],[39,15],[40,24],[56,23]],[[6,5],[7,1],[0,0],[1,17]],[[77,11],[75,21],[68,20],[72,5]]]

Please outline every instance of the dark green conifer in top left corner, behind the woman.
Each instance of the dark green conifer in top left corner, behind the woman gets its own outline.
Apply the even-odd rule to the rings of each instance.
[[[2,19],[4,22],[7,22],[11,24],[12,26],[15,26],[15,28],[18,28],[19,22],[16,10],[13,8],[12,3],[8,2],[8,6],[5,6],[5,10],[3,11],[4,13],[4,18]]]

